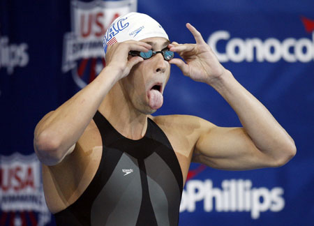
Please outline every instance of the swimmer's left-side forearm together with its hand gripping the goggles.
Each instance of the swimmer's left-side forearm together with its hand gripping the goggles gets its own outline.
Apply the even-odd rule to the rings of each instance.
[[[107,66],[96,79],[63,103],[57,110],[46,114],[37,124],[34,133],[34,149],[45,165],[56,165],[75,149],[75,143],[87,128],[112,86],[143,59],[128,59],[130,50],[147,51],[147,43],[126,41],[108,48]]]

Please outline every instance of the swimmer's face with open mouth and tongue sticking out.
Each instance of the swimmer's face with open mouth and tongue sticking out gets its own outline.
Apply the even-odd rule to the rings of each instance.
[[[169,44],[165,38],[145,38],[141,41],[151,45],[154,51],[163,50]],[[133,107],[144,114],[152,114],[163,105],[163,90],[169,76],[170,63],[158,53],[137,63],[121,82]]]

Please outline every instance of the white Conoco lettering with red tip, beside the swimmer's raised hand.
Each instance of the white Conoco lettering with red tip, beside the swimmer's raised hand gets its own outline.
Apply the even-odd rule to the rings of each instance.
[[[275,63],[283,59],[293,63],[307,63],[314,60],[314,21],[302,17],[302,22],[311,38],[231,38],[229,31],[216,31],[209,36],[207,43],[216,53],[220,62],[242,61]],[[219,45],[219,48],[218,48]],[[224,45],[221,48],[221,45]],[[219,51],[218,51],[219,49]]]

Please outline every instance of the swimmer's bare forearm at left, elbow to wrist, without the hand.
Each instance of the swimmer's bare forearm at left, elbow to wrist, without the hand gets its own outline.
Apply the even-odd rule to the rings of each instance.
[[[117,73],[114,68],[104,68],[91,84],[40,120],[33,142],[43,164],[56,165],[73,151],[101,101],[117,82]]]

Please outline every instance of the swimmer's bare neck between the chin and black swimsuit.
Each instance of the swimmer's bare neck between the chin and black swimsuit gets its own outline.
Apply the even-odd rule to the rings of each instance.
[[[98,110],[124,137],[132,140],[144,137],[147,130],[147,114],[133,107],[123,91],[121,82],[117,82],[107,93]]]

